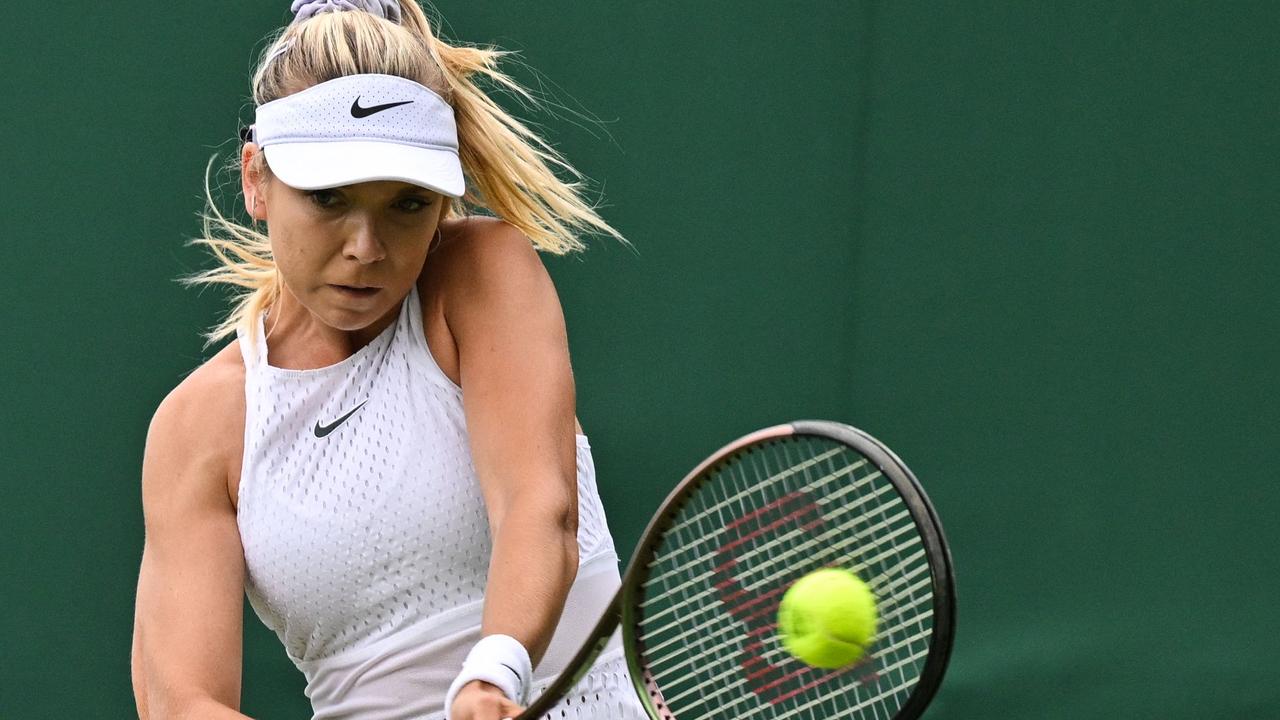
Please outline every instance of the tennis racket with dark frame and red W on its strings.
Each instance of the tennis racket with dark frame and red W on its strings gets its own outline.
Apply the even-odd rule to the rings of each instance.
[[[879,628],[855,664],[822,670],[782,647],[777,609],[829,566],[870,585]],[[653,720],[915,720],[951,655],[954,583],[933,506],[884,445],[822,420],[765,428],[667,497],[590,639],[518,720],[547,715],[620,623]]]

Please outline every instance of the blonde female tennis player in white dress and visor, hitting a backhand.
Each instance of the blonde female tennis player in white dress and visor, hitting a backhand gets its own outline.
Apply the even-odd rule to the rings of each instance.
[[[206,188],[220,266],[188,278],[247,288],[209,334],[237,337],[147,433],[138,715],[246,717],[247,594],[315,720],[511,717],[620,584],[538,251],[621,236],[474,82],[524,92],[500,51],[416,0],[292,10],[252,81],[253,223]],[[548,717],[645,717],[613,644]]]

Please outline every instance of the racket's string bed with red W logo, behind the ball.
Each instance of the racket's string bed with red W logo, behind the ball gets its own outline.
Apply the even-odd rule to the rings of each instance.
[[[782,591],[841,566],[868,580],[869,655],[826,671],[777,639]],[[681,720],[892,717],[932,633],[932,575],[910,510],[879,469],[822,438],[772,441],[714,468],[655,548],[639,605],[645,661]]]

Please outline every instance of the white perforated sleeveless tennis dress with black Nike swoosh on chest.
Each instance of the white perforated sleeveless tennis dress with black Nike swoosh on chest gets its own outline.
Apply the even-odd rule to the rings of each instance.
[[[340,363],[266,363],[262,316],[244,333],[238,524],[246,594],[307,680],[314,720],[439,720],[480,618],[492,541],[462,391],[436,365],[417,288]],[[618,588],[618,557],[577,436],[579,571],[540,692]],[[556,719],[646,717],[618,638]]]

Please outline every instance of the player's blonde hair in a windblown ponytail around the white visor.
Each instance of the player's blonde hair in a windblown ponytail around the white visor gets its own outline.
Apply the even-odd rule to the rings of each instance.
[[[485,209],[524,232],[539,250],[562,255],[582,250],[577,233],[603,233],[626,240],[584,197],[585,177],[549,143],[506,113],[472,79],[479,76],[539,105],[538,100],[498,69],[508,51],[449,45],[431,31],[417,0],[399,0],[396,24],[366,12],[323,13],[280,31],[264,50],[253,73],[253,101],[262,105],[338,77],[381,73],[425,85],[453,108],[458,155],[468,179],[466,193],[453,199],[444,218]],[[215,156],[216,158],[216,156]],[[280,296],[282,281],[265,232],[239,224],[214,202],[205,168],[204,245],[220,266],[182,278],[184,284],[230,284],[244,288],[227,319],[205,333],[207,347],[236,333]],[[229,168],[238,169],[237,158]],[[562,181],[556,170],[571,179]],[[269,177],[261,152],[251,170]],[[442,218],[443,219],[443,218]],[[248,337],[253,337],[250,333]]]

